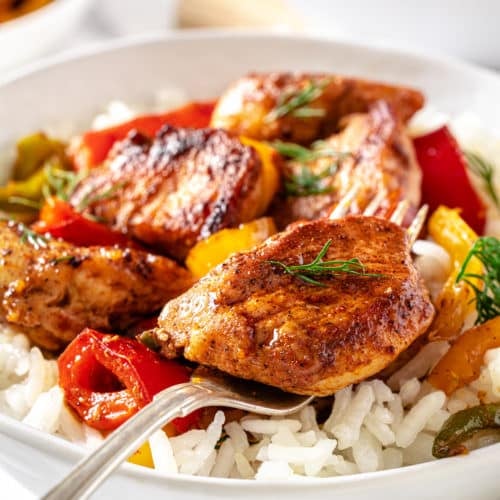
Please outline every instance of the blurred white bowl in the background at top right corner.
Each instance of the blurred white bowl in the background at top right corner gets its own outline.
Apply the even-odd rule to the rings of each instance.
[[[437,51],[500,68],[498,0],[287,1],[315,35]]]

